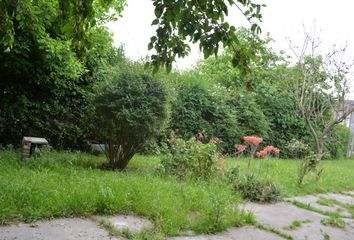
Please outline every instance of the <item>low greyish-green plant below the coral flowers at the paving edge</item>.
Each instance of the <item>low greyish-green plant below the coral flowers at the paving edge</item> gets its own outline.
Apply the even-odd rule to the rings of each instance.
[[[260,179],[254,175],[240,175],[233,170],[229,179],[236,191],[240,191],[246,199],[255,202],[272,202],[279,198],[280,192],[277,186],[269,179]]]

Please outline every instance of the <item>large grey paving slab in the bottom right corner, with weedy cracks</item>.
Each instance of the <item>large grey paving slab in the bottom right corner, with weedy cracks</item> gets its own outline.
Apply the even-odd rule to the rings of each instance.
[[[324,234],[328,234],[332,240],[354,239],[354,228],[352,227],[351,220],[345,220],[349,223],[346,229],[324,226],[321,224],[321,219],[326,218],[326,216],[296,207],[290,203],[249,203],[245,206],[245,209],[252,211],[260,223],[272,226],[273,228],[292,236],[294,239],[323,240]],[[301,227],[294,230],[287,230],[284,228],[285,226],[291,225],[293,221],[305,220],[310,220],[310,222],[304,223]]]

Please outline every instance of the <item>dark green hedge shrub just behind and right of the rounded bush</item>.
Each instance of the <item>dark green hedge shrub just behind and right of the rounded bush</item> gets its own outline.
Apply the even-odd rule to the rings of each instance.
[[[179,136],[189,139],[201,130],[208,138],[221,140],[223,150],[231,151],[237,140],[243,136],[238,125],[237,112],[228,103],[229,94],[213,87],[207,90],[201,85],[183,85],[172,103],[170,128],[179,129]]]

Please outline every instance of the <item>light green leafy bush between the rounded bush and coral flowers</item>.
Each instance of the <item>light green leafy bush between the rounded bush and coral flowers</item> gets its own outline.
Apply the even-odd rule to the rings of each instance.
[[[208,179],[215,176],[220,168],[216,143],[212,139],[203,144],[195,137],[185,141],[173,133],[170,139],[170,152],[161,161],[163,171],[180,179],[189,177]]]

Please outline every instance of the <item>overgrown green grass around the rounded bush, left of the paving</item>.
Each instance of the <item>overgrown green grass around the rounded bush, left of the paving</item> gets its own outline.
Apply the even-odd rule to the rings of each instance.
[[[220,180],[181,182],[153,174],[156,158],[136,157],[126,172],[97,169],[103,157],[49,153],[28,164],[0,153],[0,222],[126,213],[142,215],[158,231],[216,232],[254,221],[236,205],[241,197]],[[141,170],[137,170],[141,169]]]

